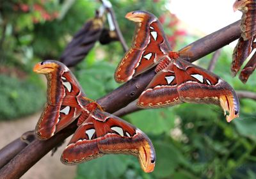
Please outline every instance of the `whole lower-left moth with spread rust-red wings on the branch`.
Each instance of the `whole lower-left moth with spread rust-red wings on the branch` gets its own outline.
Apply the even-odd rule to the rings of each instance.
[[[104,112],[86,98],[76,77],[58,61],[37,63],[34,72],[47,77],[47,102],[35,128],[47,140],[77,119],[78,128],[61,155],[64,164],[77,164],[107,153],[138,157],[141,168],[152,172],[156,154],[150,139],[126,121]]]

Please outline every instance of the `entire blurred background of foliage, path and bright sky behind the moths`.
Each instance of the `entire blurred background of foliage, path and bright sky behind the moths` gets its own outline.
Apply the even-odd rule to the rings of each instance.
[[[128,46],[134,24],[124,17],[132,10],[154,13],[174,51],[241,18],[241,13],[232,12],[233,0],[227,4],[191,2],[111,0]],[[46,84],[42,75],[33,73],[35,63],[60,59],[72,36],[95,16],[100,5],[90,0],[1,1],[0,148],[33,129],[42,112]],[[213,72],[236,90],[256,92],[256,73],[245,85],[230,75],[234,45],[221,49]],[[97,42],[71,68],[88,97],[96,100],[120,85],[113,74],[123,55],[120,42]],[[207,68],[211,59],[209,54],[196,65]],[[143,173],[138,160],[128,155],[106,155],[64,166],[59,160],[63,144],[22,178],[256,178],[256,102],[250,98],[240,102],[241,114],[231,123],[215,105],[180,104],[124,116],[152,140],[157,155],[153,173]]]

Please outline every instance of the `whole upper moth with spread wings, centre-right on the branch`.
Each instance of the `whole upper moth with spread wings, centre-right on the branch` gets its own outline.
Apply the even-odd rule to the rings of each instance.
[[[156,66],[156,76],[138,98],[139,107],[166,107],[182,102],[215,104],[222,107],[228,122],[239,116],[234,89],[217,75],[180,59],[152,13],[134,11],[125,17],[136,23],[136,30],[131,48],[116,68],[115,81],[129,81]]]

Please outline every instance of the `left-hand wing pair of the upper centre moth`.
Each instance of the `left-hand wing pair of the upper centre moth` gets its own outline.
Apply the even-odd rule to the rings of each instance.
[[[136,22],[131,49],[125,53],[116,68],[116,82],[128,81],[145,72],[171,51],[159,20],[148,12],[131,12],[127,15],[131,14],[129,18],[132,20],[136,18],[136,13],[141,15],[142,20]]]

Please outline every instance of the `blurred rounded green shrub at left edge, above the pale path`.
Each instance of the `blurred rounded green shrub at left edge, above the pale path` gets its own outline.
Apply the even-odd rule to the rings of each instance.
[[[34,81],[31,79],[30,81]],[[45,91],[28,80],[0,75],[0,120],[35,113],[45,102]],[[4,88],[3,88],[4,87]]]

